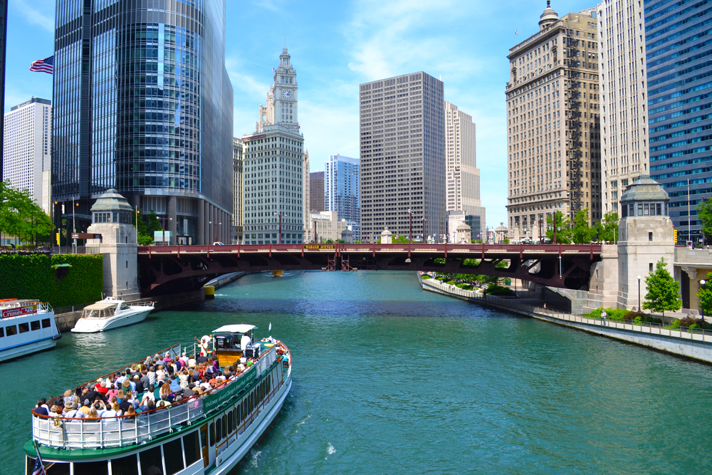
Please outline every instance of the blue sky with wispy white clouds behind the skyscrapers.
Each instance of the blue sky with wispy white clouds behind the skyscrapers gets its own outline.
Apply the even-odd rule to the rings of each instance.
[[[54,6],[9,2],[6,112],[32,97],[51,99],[51,75],[28,67],[53,54]],[[592,6],[552,2],[559,16]],[[424,71],[476,123],[481,199],[487,226],[496,227],[507,221],[507,54],[539,30],[545,8],[541,0],[226,0],[234,135],[255,129],[285,37],[311,171],[323,170],[329,155],[359,157],[361,83]]]

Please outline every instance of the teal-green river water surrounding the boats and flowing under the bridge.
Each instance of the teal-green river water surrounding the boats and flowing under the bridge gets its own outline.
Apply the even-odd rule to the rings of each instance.
[[[414,273],[253,274],[214,301],[0,364],[0,473],[29,409],[226,323],[293,355],[293,387],[239,474],[703,474],[712,367],[422,291]]]

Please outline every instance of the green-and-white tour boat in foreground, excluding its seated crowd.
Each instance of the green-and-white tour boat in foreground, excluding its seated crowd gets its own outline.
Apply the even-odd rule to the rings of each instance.
[[[270,427],[292,385],[289,349],[271,337],[255,342],[255,329],[226,325],[199,344],[159,351],[175,357],[207,349],[221,370],[237,361],[247,365],[167,408],[98,419],[47,417],[33,409],[32,439],[23,447],[26,473],[39,457],[48,474],[228,474]],[[243,346],[246,335],[251,344]]]

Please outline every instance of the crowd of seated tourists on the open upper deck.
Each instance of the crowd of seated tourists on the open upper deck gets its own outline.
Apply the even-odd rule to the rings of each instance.
[[[141,412],[164,409],[199,397],[240,375],[254,360],[235,362],[221,371],[217,358],[200,353],[181,357],[146,357],[122,372],[74,390],[61,397],[38,400],[33,412],[39,416],[67,419],[132,416]]]

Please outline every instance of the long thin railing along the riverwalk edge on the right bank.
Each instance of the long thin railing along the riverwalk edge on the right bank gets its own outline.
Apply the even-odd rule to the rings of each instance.
[[[419,277],[420,278],[420,277]],[[533,306],[528,303],[520,303],[502,298],[498,296],[489,296],[475,291],[466,291],[462,288],[452,286],[448,283],[436,281],[434,278],[422,279],[424,286],[437,288],[444,293],[449,293],[455,296],[461,296],[468,300],[479,300],[486,302],[492,306],[502,308],[503,310],[511,310],[516,313],[524,313],[530,316],[543,316],[555,318],[567,322],[585,323],[586,325],[605,326],[607,328],[617,328],[619,330],[629,330],[639,333],[648,333],[650,335],[662,335],[671,338],[680,338],[682,340],[699,341],[703,343],[712,343],[712,331],[704,330],[703,328],[688,328],[679,327],[671,328],[670,325],[661,323],[637,322],[634,320],[603,320],[602,318],[587,318],[582,315],[574,315],[572,313],[560,312],[550,308]]]

